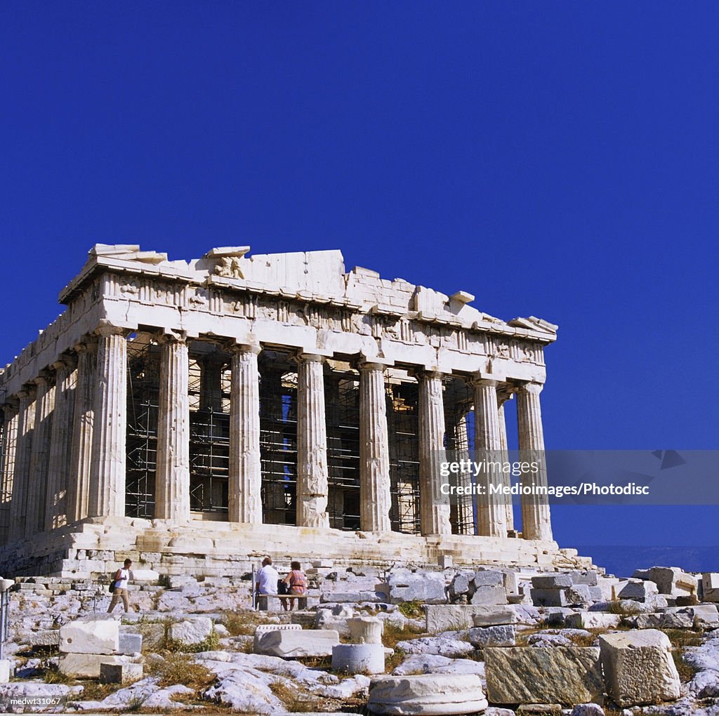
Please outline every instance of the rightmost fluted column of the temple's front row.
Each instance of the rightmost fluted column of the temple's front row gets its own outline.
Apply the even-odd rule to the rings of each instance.
[[[520,459],[537,462],[539,472],[533,474],[534,485],[547,485],[544,462],[544,431],[541,424],[538,383],[525,383],[517,391],[517,427]],[[521,495],[522,536],[525,539],[551,540],[549,498],[546,495]]]

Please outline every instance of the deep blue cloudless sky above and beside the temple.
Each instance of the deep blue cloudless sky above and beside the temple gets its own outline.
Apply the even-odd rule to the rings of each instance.
[[[559,323],[549,448],[717,448],[718,21],[708,2],[6,1],[1,362],[96,242],[339,248]],[[554,523],[562,546],[714,544],[717,510]]]

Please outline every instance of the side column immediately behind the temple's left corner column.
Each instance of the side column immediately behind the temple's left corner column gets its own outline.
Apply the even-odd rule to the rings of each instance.
[[[88,337],[74,347],[78,356],[75,370],[75,405],[68,474],[68,523],[88,516],[90,497],[93,416],[97,375],[97,341]]]

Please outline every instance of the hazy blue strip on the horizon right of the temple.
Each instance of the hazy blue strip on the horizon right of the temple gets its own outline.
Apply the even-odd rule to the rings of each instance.
[[[719,572],[719,546],[658,547],[658,546],[578,546],[582,557],[591,557],[594,564],[604,567],[607,574],[631,577],[635,569],[651,566],[676,566],[686,572]]]

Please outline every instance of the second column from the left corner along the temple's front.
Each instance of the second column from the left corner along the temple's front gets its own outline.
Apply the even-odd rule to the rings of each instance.
[[[185,521],[190,519],[190,358],[184,338],[165,335],[159,342],[155,517]]]

